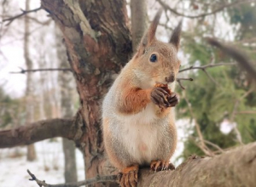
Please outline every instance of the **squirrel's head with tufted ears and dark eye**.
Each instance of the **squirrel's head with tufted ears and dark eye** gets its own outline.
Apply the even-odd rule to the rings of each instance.
[[[155,15],[154,20],[146,34],[143,36],[137,54],[133,57],[136,73],[148,82],[171,83],[174,82],[179,70],[180,61],[177,51],[180,42],[182,22],[172,32],[168,43],[160,42],[155,37],[155,31],[160,20],[161,10]]]

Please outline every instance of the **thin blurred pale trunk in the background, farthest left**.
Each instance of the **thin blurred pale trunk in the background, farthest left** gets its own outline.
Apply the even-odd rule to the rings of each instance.
[[[29,10],[30,0],[26,0],[26,8],[25,10]],[[24,58],[26,61],[26,69],[32,69],[32,60],[30,59],[30,53],[29,53],[29,18],[27,15],[25,15],[25,23],[24,23]],[[26,73],[26,124],[29,124],[33,122],[33,80],[32,80],[32,73],[27,72]],[[34,161],[36,160],[36,150],[34,147],[34,144],[29,144],[27,146],[27,152],[26,152],[26,160],[27,161]]]

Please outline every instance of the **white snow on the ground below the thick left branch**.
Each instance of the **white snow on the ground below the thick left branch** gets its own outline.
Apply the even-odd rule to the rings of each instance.
[[[64,155],[61,139],[54,142],[44,140],[35,144],[37,161],[26,161],[26,146],[0,150],[0,187],[37,187],[29,181],[29,169],[38,179],[49,184],[64,183]],[[21,156],[15,157],[17,152]],[[76,150],[79,180],[84,180],[84,160],[80,150]]]

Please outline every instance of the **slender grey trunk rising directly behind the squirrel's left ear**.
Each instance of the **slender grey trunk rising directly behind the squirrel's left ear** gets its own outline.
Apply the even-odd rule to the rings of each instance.
[[[147,28],[147,2],[146,0],[131,0],[131,37],[132,49],[136,51]]]

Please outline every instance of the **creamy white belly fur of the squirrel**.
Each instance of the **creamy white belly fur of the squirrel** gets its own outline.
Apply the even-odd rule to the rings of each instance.
[[[122,140],[126,150],[139,164],[150,163],[156,155],[159,127],[153,124],[158,119],[154,110],[151,103],[138,114],[122,116],[122,131],[125,133]]]

